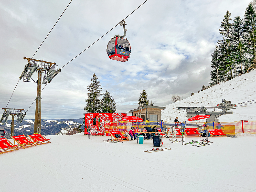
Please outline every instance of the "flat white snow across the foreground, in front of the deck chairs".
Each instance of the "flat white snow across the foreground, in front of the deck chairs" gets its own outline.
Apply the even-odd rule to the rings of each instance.
[[[0,155],[0,191],[256,191],[254,136],[209,138],[203,147],[163,138],[171,150],[153,153],[143,152],[153,140],[46,137],[51,143]]]

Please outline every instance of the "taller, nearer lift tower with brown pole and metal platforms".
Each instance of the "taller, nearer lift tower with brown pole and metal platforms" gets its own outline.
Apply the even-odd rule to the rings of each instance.
[[[25,66],[19,79],[23,78],[25,82],[33,82],[31,78],[32,74],[36,71],[37,81],[37,97],[36,97],[36,113],[35,113],[35,124],[34,133],[41,133],[41,84],[50,83],[51,80],[60,72],[56,63],[51,63],[43,60],[30,59],[24,57],[23,59],[28,60],[28,64]],[[45,72],[44,78],[42,79],[42,73]],[[29,80],[33,81],[29,81]]]

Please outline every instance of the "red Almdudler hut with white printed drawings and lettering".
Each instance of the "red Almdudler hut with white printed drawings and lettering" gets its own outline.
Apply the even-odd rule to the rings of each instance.
[[[84,134],[103,135],[105,122],[119,122],[126,113],[86,113]]]

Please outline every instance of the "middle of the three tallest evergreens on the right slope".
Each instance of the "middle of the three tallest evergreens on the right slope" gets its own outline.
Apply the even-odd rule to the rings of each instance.
[[[243,31],[242,19],[240,16],[236,16],[234,19],[234,23],[232,24],[232,31],[231,31],[231,39],[232,39],[231,42],[234,47],[232,57],[233,57],[234,63],[236,63],[238,66],[238,71],[241,71],[241,73],[243,73],[243,65],[247,63],[247,59],[245,55],[244,40],[242,38],[242,31]]]

